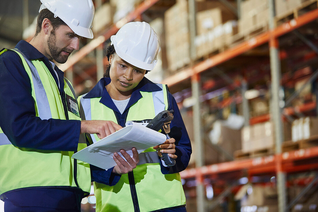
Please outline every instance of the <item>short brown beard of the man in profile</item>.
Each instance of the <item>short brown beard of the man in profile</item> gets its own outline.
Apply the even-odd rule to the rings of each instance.
[[[51,32],[48,40],[47,40],[47,46],[49,47],[49,51],[50,51],[50,54],[52,56],[52,59],[55,60],[56,62],[58,63],[65,63],[68,59],[68,56],[72,53],[73,50],[69,50],[67,48],[63,48],[63,49],[60,49],[56,46],[56,36],[55,36],[55,33],[54,32]],[[65,51],[65,52],[68,52],[70,54],[68,55],[62,55],[61,53]]]

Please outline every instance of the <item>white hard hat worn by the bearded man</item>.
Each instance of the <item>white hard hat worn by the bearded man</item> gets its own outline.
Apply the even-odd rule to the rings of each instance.
[[[73,32],[85,38],[93,38],[92,22],[95,8],[92,0],[40,0],[40,10],[48,9],[59,17]]]

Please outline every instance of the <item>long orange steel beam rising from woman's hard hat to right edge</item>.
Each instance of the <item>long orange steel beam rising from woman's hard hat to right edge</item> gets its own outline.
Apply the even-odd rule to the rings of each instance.
[[[316,18],[318,18],[318,9],[307,12],[306,14],[298,18],[292,19],[276,27],[273,31],[264,32],[256,36],[255,38],[249,39],[231,49],[228,49],[222,53],[216,54],[198,63],[197,65],[193,67],[181,70],[179,73],[164,79],[162,82],[164,84],[168,84],[169,86],[175,85],[185,79],[190,78],[192,74],[194,73],[197,73],[197,74],[202,73],[209,68],[215,67],[227,60],[230,60],[242,53],[247,52],[248,50],[251,50],[257,46],[260,46],[268,42],[271,36],[273,36],[274,38],[277,38],[281,35],[284,35],[288,32],[293,31],[294,29],[301,27],[302,25],[305,25],[311,21],[314,21]]]

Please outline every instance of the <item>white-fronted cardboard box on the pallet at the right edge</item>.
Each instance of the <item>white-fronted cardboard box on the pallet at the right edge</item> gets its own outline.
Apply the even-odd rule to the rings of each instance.
[[[292,141],[296,142],[318,135],[318,118],[299,118],[292,123]]]

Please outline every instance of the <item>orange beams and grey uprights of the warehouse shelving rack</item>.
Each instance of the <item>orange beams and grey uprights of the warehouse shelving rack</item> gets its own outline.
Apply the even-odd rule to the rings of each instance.
[[[72,80],[72,71],[67,71],[67,70],[72,70],[72,67],[81,59],[83,59],[88,53],[92,52],[94,49],[100,49],[100,46],[110,38],[111,35],[115,34],[118,29],[124,25],[125,23],[129,21],[135,20],[135,18],[138,18],[144,11],[149,9],[152,5],[156,4],[159,0],[145,0],[140,4],[135,11],[131,12],[126,18],[121,19],[119,22],[115,23],[112,25],[106,32],[102,33],[99,37],[96,39],[93,39],[90,41],[86,46],[82,47],[77,53],[74,53],[69,60],[59,66],[61,70],[66,71],[68,75],[68,78]],[[189,4],[193,3],[193,1],[189,0]],[[193,7],[192,7],[193,8]],[[189,11],[191,12],[191,7],[189,7]],[[273,11],[273,9],[272,9]],[[194,11],[195,13],[195,11]],[[273,15],[272,15],[273,16]],[[272,17],[273,18],[273,17]],[[168,84],[168,86],[176,86],[178,83],[189,80],[191,81],[192,85],[192,95],[194,96],[195,99],[199,99],[200,96],[200,74],[203,72],[216,67],[230,59],[233,59],[243,53],[246,53],[258,46],[261,46],[263,44],[268,43],[270,46],[270,51],[271,51],[271,68],[272,68],[272,88],[273,88],[273,94],[278,93],[279,90],[279,85],[280,85],[280,77],[275,75],[279,75],[278,73],[280,72],[280,65],[279,61],[277,61],[278,58],[278,38],[282,35],[287,34],[288,32],[291,32],[303,25],[306,25],[315,19],[318,18],[318,9],[309,11],[304,15],[301,15],[297,18],[294,18],[282,25],[279,25],[277,27],[270,27],[270,30],[267,32],[264,32],[260,35],[257,35],[256,37],[253,37],[245,42],[242,42],[224,52],[218,53],[214,56],[211,56],[210,58],[199,62],[195,64],[193,61],[191,62],[191,66],[188,68],[185,68],[183,70],[180,70],[178,73],[167,77],[166,79],[163,80],[162,83]],[[273,24],[273,20],[272,23]],[[314,53],[317,54],[317,53]],[[276,55],[276,57],[275,57]],[[275,61],[276,60],[276,61]],[[100,67],[103,67],[104,64],[107,64],[107,61],[104,60],[99,60],[97,63],[102,63]],[[99,71],[98,71],[99,72]],[[103,70],[102,68],[100,69],[100,72],[102,73]],[[71,75],[70,75],[71,74]],[[276,116],[274,115],[273,117],[280,117],[280,108],[278,106],[278,100],[279,97],[276,96]],[[193,110],[196,114],[200,115],[200,103],[199,101],[196,101],[197,103],[193,106]],[[245,102],[246,103],[246,102]],[[298,109],[292,109],[292,108],[287,108],[285,109],[285,112],[288,114],[292,114],[293,110],[311,110],[316,107],[315,102],[307,103]],[[278,114],[278,115],[277,115]],[[197,128],[200,128],[200,116],[194,116],[197,117],[196,120],[194,120],[194,125],[197,126]],[[246,119],[246,112],[245,112],[245,119]],[[266,121],[271,118],[271,115],[263,115],[255,118],[248,118],[248,122],[250,124],[258,123],[261,121]],[[279,118],[276,119],[275,125],[278,126],[276,129],[281,129],[281,120]],[[280,130],[278,130],[280,131]],[[195,135],[196,139],[201,143],[201,133],[200,129],[195,131],[197,134]],[[204,201],[203,201],[203,178],[205,175],[208,174],[215,174],[215,173],[226,173],[230,171],[235,171],[235,170],[247,170],[249,173],[262,173],[262,172],[275,172],[275,173],[281,173],[284,175],[284,173],[291,172],[291,171],[301,171],[301,170],[308,170],[311,168],[318,168],[318,164],[309,164],[309,165],[301,165],[301,166],[290,166],[293,164],[294,161],[298,161],[301,159],[310,159],[310,158],[316,158],[318,157],[318,148],[313,147],[310,149],[306,150],[298,150],[298,151],[293,151],[293,152],[281,152],[281,135],[277,135],[276,137],[277,140],[277,145],[276,148],[278,149],[278,152],[269,157],[263,157],[263,158],[257,158],[257,159],[245,159],[245,160],[240,160],[240,161],[231,161],[231,162],[226,162],[226,163],[221,163],[221,164],[215,164],[215,165],[210,165],[210,166],[203,166],[202,162],[200,164],[200,161],[203,161],[202,158],[198,158],[197,165],[199,165],[197,168],[193,169],[188,169],[183,172],[181,172],[181,176],[184,179],[194,177],[197,179],[198,182],[198,206],[197,209],[199,212],[204,211]],[[199,152],[198,155],[201,155],[202,152],[202,146],[199,147]],[[280,149],[280,150],[279,150]],[[199,156],[199,157],[202,157]],[[287,166],[288,165],[288,166]],[[289,168],[288,168],[289,167]],[[291,168],[290,168],[291,167]],[[285,211],[287,207],[286,203],[286,194],[285,192],[285,183],[286,180],[284,180],[284,176],[282,176],[282,180],[278,182],[280,184],[278,186],[279,192],[279,202],[280,202],[280,211]],[[281,190],[281,191],[280,191]]]

